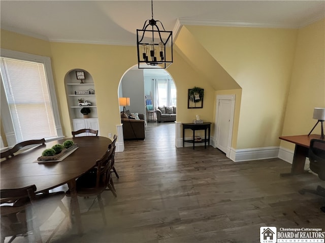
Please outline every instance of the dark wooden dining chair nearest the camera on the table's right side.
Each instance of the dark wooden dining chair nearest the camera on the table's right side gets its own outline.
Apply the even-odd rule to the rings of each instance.
[[[78,196],[82,196],[84,198],[89,196],[96,196],[88,211],[81,213],[81,215],[88,214],[95,201],[98,200],[105,225],[107,223],[107,220],[101,194],[103,191],[105,191],[106,187],[108,187],[116,197],[115,189],[111,184],[113,182],[111,178],[111,169],[114,152],[115,146],[112,146],[105,152],[102,158],[96,160],[96,165],[94,168],[90,169],[88,172],[76,180],[76,191]],[[70,190],[66,191],[66,195],[71,196]]]

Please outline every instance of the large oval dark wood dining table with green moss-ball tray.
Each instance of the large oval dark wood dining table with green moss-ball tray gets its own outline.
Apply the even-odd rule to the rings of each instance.
[[[73,140],[78,144],[78,149],[59,162],[36,162],[44,149],[51,148],[55,144],[62,144],[66,140]],[[91,169],[96,160],[104,155],[111,143],[112,141],[106,137],[88,136],[60,139],[27,149],[14,157],[1,161],[1,189],[20,188],[35,184],[37,192],[46,192],[60,185],[68,184],[78,233],[82,234],[76,178]]]

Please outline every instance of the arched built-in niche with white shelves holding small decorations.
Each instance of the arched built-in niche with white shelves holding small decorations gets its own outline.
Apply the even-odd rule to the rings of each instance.
[[[77,72],[78,74],[79,72],[84,74],[84,79],[82,75],[78,79]],[[83,69],[72,69],[64,77],[64,84],[66,86],[72,131],[84,128],[99,130],[95,85],[90,73]],[[80,100],[84,102],[80,103]],[[90,109],[88,116],[84,116],[80,112],[83,107]]]

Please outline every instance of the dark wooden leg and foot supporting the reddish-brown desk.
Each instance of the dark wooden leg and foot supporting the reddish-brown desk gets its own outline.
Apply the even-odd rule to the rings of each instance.
[[[280,176],[294,176],[309,173],[304,170],[306,157],[308,157],[308,150],[308,148],[296,144],[291,172],[282,173]]]

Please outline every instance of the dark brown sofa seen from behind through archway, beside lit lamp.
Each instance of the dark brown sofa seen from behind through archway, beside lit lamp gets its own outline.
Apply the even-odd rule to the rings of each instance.
[[[124,140],[144,140],[145,120],[144,114],[131,113],[129,110],[121,112]],[[138,117],[136,117],[138,116]]]

